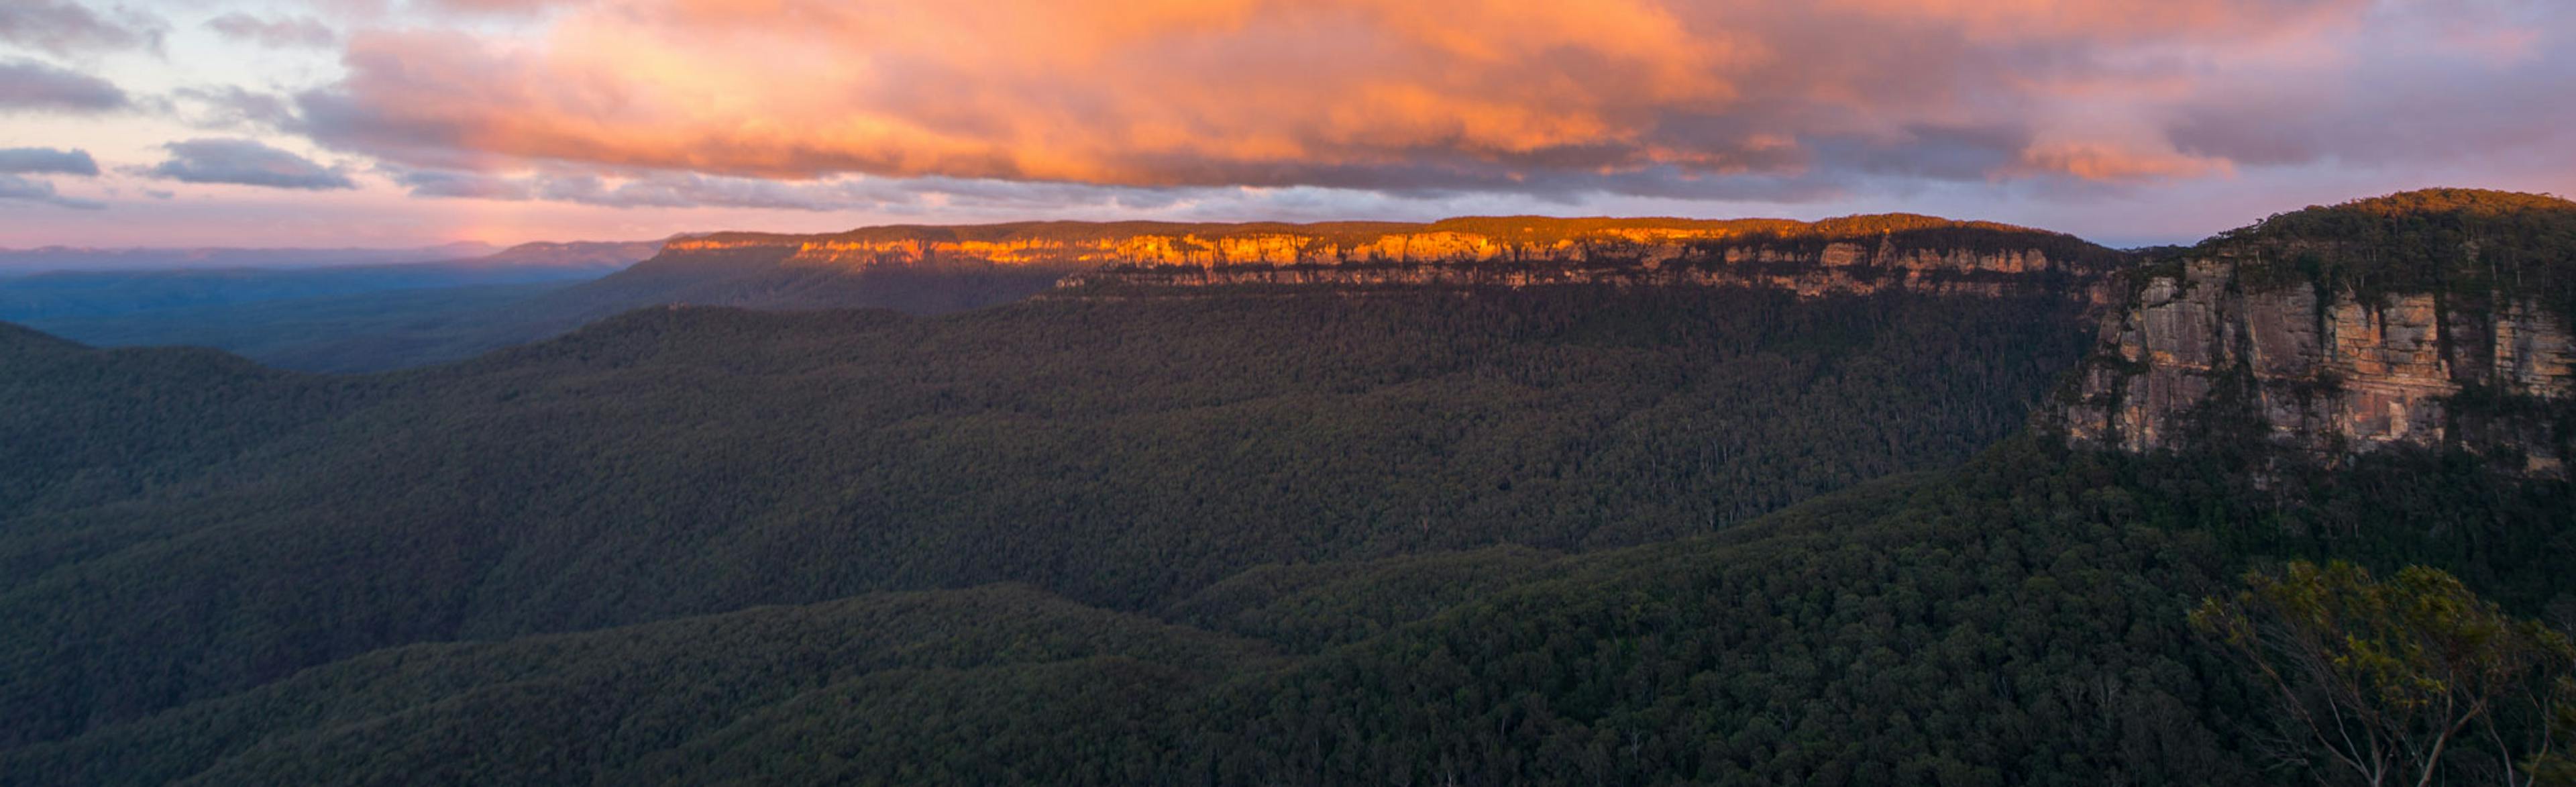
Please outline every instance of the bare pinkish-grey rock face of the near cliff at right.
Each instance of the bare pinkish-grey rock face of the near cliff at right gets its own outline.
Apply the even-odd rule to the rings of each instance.
[[[2568,436],[2548,418],[2576,387],[2566,317],[2494,292],[2318,289],[2257,284],[2223,258],[2141,271],[2050,418],[2125,452],[2182,446],[2192,418],[2249,415],[2324,462],[2455,446],[2566,475]]]

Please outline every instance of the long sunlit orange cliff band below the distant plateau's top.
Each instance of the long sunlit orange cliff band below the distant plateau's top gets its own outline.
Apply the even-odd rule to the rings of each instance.
[[[1770,286],[1798,294],[2069,292],[2117,253],[2002,224],[1865,217],[1842,224],[1690,219],[1450,219],[1437,224],[987,224],[842,235],[711,235],[665,255],[783,268],[1010,266],[1064,271],[1056,297],[1193,286]]]

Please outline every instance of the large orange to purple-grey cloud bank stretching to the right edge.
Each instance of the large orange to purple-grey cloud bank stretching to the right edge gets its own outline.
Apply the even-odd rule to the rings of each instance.
[[[2476,126],[2421,150],[2576,150],[2550,98],[2576,23],[2553,3],[564,3],[523,36],[358,31],[343,80],[258,114],[443,173],[417,196],[585,204],[876,204],[884,186],[824,183],[889,178],[1141,201],[2099,194],[2414,155],[2445,116],[2409,101]]]

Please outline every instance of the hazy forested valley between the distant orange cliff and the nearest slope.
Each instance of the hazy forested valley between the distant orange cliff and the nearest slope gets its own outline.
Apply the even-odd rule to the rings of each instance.
[[[21,335],[62,369],[0,379],[39,436],[0,622],[44,632],[0,645],[0,733],[402,643],[994,581],[1144,612],[1265,563],[1659,542],[2009,433],[2069,320],[1744,289],[644,310],[353,379]]]

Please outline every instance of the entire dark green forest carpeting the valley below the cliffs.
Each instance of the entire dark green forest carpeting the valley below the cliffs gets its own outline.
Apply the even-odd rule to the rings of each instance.
[[[0,784],[2576,774],[2576,485],[2223,400],[2069,446],[2087,310],[654,307],[363,377],[0,325]]]

